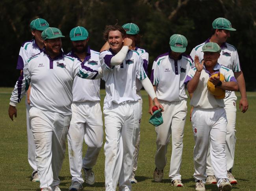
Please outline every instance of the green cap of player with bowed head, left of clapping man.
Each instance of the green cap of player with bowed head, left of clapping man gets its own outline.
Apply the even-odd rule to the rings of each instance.
[[[184,53],[187,47],[187,38],[183,35],[174,34],[170,37],[171,50],[176,53]]]

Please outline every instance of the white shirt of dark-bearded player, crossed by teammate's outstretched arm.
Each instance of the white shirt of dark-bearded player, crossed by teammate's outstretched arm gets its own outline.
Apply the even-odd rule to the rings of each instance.
[[[80,58],[70,51],[68,56],[77,58],[83,65],[90,67],[93,70],[98,70],[100,67],[99,52],[87,48],[87,56],[85,59],[80,60]],[[73,102],[97,102],[100,101],[100,79],[97,80],[88,80],[83,79],[78,76],[74,78],[74,84],[72,88]]]

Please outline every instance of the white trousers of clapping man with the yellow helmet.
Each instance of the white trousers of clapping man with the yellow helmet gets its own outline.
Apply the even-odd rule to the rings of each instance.
[[[195,139],[195,182],[202,180],[205,183],[206,158],[210,138],[211,164],[218,181],[217,186],[219,187],[223,178],[228,180],[225,154],[226,112],[223,107],[217,107],[215,109],[198,109],[195,107],[191,120]]]

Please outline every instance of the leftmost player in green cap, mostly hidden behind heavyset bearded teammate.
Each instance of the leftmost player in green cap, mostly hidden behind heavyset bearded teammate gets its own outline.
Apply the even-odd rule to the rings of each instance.
[[[22,73],[22,70],[23,70],[24,64],[26,64],[26,61],[30,57],[37,55],[43,50],[44,42],[41,37],[41,33],[43,32],[43,30],[47,29],[48,27],[49,27],[48,22],[43,18],[37,18],[35,20],[32,20],[32,22],[30,23],[33,39],[30,41],[24,42],[20,47],[20,53],[18,57],[17,67],[16,67],[17,69],[20,70],[20,74]],[[28,112],[31,107],[28,103],[28,99],[26,99],[25,103],[26,103],[27,135],[28,135],[28,163],[33,169],[31,180],[32,182],[39,182],[37,166],[35,163],[35,141],[33,138],[30,120],[28,116]]]

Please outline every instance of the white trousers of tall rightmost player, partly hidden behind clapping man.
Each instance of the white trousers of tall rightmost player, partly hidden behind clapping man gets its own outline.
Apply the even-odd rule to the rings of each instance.
[[[225,100],[225,111],[227,117],[227,134],[226,134],[226,158],[227,158],[227,171],[232,170],[234,166],[235,158],[235,146],[236,146],[236,100],[228,99]],[[211,166],[211,157],[210,157],[210,145],[208,148],[207,154],[207,167],[206,167],[207,176],[214,175],[213,168]]]

